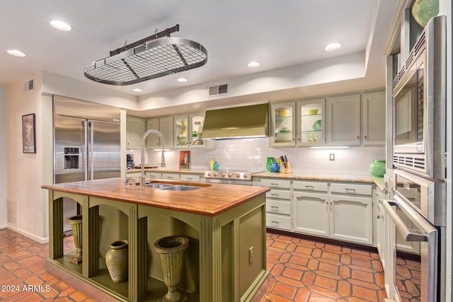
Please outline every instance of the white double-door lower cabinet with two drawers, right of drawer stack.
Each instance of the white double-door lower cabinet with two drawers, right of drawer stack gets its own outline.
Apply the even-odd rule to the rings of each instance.
[[[294,181],[293,189],[294,232],[374,244],[372,185]]]

